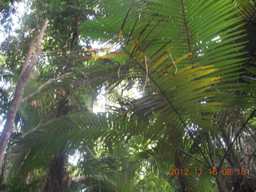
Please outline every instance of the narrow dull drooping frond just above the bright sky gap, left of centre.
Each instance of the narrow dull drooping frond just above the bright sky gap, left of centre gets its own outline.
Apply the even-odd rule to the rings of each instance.
[[[63,86],[70,84],[70,82],[73,84],[70,91],[76,91],[83,87],[102,86],[104,82],[114,83],[122,79],[136,79],[143,76],[143,74],[138,74],[136,71],[138,71],[136,66],[121,65],[112,61],[109,66],[105,66],[102,62],[96,62],[92,66],[75,67],[72,72],[48,79],[36,91],[23,98],[23,101],[31,102],[47,91],[51,91],[54,94],[54,90],[61,89]]]

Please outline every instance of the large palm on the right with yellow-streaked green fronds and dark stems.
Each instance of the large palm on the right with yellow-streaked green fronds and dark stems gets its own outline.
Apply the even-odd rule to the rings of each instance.
[[[130,4],[129,8],[118,7],[120,16],[116,17],[116,7],[110,3],[108,9],[114,14],[97,22],[86,22],[82,29],[95,38],[107,38],[100,35],[107,34],[113,39],[113,32],[117,38],[123,35],[122,53],[127,55],[126,62],[135,63],[146,76],[142,79],[145,96],[133,103],[134,114],[139,110],[139,114],[157,117],[147,134],[165,138],[166,142],[175,141],[178,145],[172,146],[178,151],[178,146],[183,151],[196,147],[208,169],[222,171],[223,163],[232,169],[242,167],[245,154],[242,151],[237,154],[236,150],[254,146],[253,132],[246,125],[255,112],[254,103],[245,102],[242,96],[248,94],[245,86],[253,89],[254,85],[242,84],[246,60],[242,52],[245,42],[241,40],[244,22],[234,6],[242,6],[242,14],[251,22],[254,3],[133,1]],[[121,29],[114,27],[118,22]],[[244,118],[245,111],[249,112],[249,118]],[[250,141],[240,136],[245,129],[251,133]],[[177,142],[171,133],[179,132]],[[184,135],[194,141],[187,142]],[[234,146],[238,137],[244,140]],[[174,165],[189,166],[180,162],[184,157],[178,151],[171,153],[178,154],[173,157]],[[253,156],[254,152],[250,154]],[[247,165],[246,169],[250,163]],[[232,185],[242,183],[236,177],[233,183],[226,183],[220,174],[215,178],[222,191],[230,191]],[[251,180],[247,176],[243,179]],[[185,186],[183,190],[188,190],[188,182],[184,180],[181,177],[179,181]],[[246,187],[246,190],[254,188]],[[238,189],[233,186],[233,190]]]

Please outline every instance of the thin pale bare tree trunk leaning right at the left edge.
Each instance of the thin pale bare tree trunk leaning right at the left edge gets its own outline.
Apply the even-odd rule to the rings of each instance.
[[[40,33],[38,34],[37,38],[35,38],[30,43],[29,50],[26,55],[26,60],[22,66],[22,73],[20,75],[20,78],[18,79],[18,84],[14,92],[14,98],[10,103],[10,109],[6,116],[6,123],[0,137],[0,169],[2,167],[2,161],[6,154],[6,146],[10,141],[11,134],[13,133],[14,119],[17,114],[19,103],[21,102],[22,96],[24,94],[26,82],[30,78],[31,70],[33,70],[34,65],[36,64],[36,62],[38,62],[39,55],[42,52],[41,50],[42,38],[44,37],[48,22],[49,22],[48,19],[46,19],[43,22],[42,29],[40,30]],[[35,52],[34,52],[35,42],[36,42],[36,46],[35,46]]]

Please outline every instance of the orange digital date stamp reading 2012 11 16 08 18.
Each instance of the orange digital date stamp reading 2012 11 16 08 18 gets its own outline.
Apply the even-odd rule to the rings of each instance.
[[[216,168],[213,169],[208,169],[208,170],[202,170],[202,169],[170,169],[170,174],[169,175],[200,175],[200,174],[208,174],[208,175],[217,175],[217,174],[222,174],[222,175],[246,175],[249,174],[249,171],[246,170],[245,168],[242,169],[230,169],[230,168],[222,168],[221,170],[217,170]]]

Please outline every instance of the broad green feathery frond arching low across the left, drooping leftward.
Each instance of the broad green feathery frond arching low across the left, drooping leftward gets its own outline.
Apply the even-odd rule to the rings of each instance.
[[[66,153],[83,142],[90,144],[102,139],[101,142],[114,143],[143,136],[146,125],[116,114],[74,114],[57,118],[22,135],[14,144],[11,159],[14,169],[46,166],[53,155]]]

